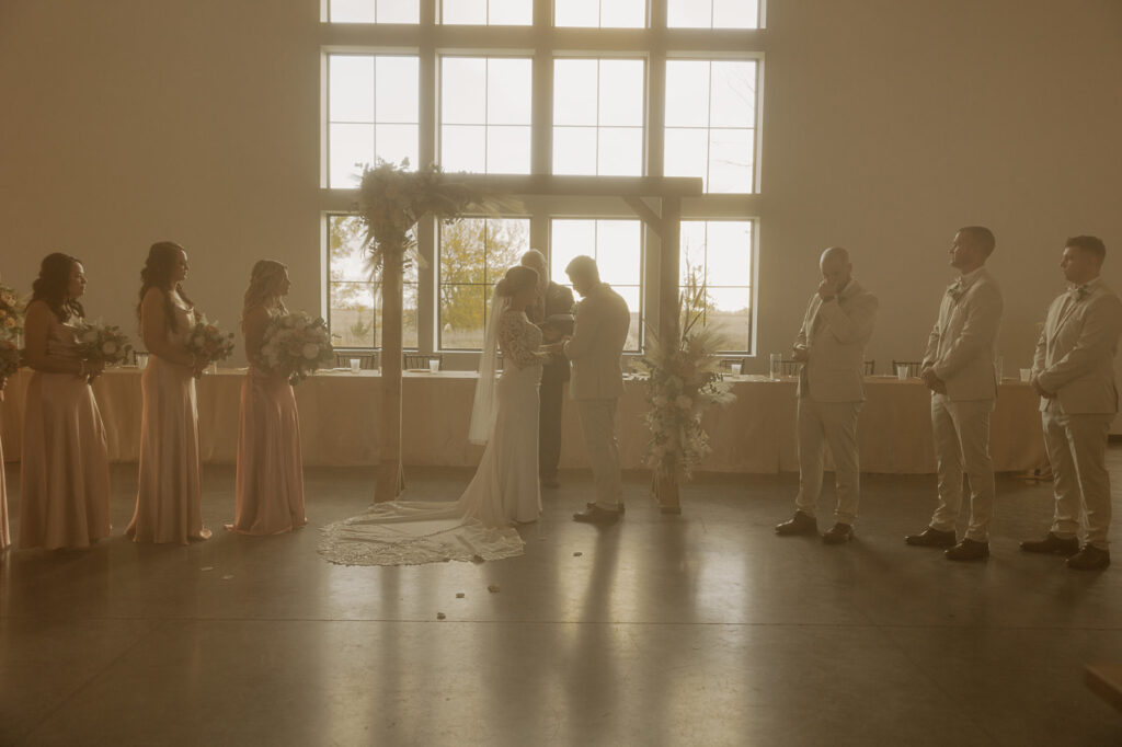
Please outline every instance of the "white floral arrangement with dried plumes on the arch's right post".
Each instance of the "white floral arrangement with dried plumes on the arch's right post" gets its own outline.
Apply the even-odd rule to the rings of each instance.
[[[644,421],[651,439],[644,461],[659,477],[680,473],[688,479],[711,451],[701,416],[712,405],[736,399],[718,372],[721,338],[700,324],[705,298],[705,287],[691,279],[678,301],[679,339],[664,341],[649,333],[646,356],[638,360],[650,376],[646,400],[651,408]]]

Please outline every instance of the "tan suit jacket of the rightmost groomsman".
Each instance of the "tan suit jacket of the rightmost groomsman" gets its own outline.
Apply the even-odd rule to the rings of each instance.
[[[1032,376],[1056,394],[1052,412],[1118,412],[1114,354],[1120,333],[1122,301],[1101,279],[1087,284],[1082,299],[1069,290],[1051,303],[1037,341]],[[1041,411],[1048,404],[1040,398]]]

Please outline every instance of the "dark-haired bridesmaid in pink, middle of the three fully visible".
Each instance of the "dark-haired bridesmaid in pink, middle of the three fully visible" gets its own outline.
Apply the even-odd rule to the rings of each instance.
[[[195,377],[206,361],[187,350],[194,304],[183,293],[187,252],[151,245],[140,271],[140,334],[150,357],[140,376],[140,477],[137,507],[125,534],[134,542],[186,544],[206,540]]]

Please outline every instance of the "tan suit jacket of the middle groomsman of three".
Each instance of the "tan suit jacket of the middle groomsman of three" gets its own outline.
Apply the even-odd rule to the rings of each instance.
[[[935,369],[951,400],[996,399],[994,357],[1003,307],[1001,289],[984,267],[965,279],[960,292],[953,292],[955,287],[951,284],[942,296],[923,366]]]

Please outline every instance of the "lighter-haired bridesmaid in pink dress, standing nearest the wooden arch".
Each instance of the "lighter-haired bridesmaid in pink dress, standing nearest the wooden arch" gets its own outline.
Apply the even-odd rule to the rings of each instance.
[[[269,319],[288,313],[280,298],[289,287],[288,269],[263,259],[254,265],[242,305],[249,372],[241,384],[234,519],[226,525],[240,534],[280,534],[307,523],[296,398],[287,374],[256,362]]]

